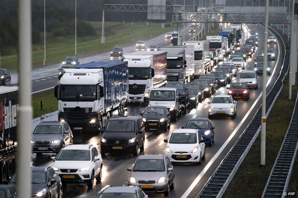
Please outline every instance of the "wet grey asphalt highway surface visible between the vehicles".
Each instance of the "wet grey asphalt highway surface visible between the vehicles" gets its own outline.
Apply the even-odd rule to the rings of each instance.
[[[260,25],[255,26],[259,32],[259,43],[254,53],[256,55],[262,55],[263,50],[263,31],[264,28]],[[188,29],[186,28],[187,32]],[[186,36],[190,38],[190,34],[186,33]],[[185,38],[186,38],[185,36]],[[243,40],[245,37],[243,33]],[[187,38],[186,38],[187,39]],[[169,40],[169,39],[168,39]],[[146,41],[149,44],[156,44],[159,46],[169,45],[169,41],[164,39],[164,35],[158,37],[158,39],[151,39]],[[268,48],[273,48],[276,51],[276,60],[270,61],[271,75],[267,76],[267,91],[271,89],[277,76],[279,75],[280,68],[282,65],[282,52],[281,43],[268,45]],[[125,52],[131,52],[134,50],[134,46],[124,47]],[[253,70],[254,63],[253,58],[249,58],[245,69]],[[93,58],[93,59],[92,59]],[[109,53],[104,53],[92,58],[83,58],[80,60],[81,63],[90,61],[107,61],[110,60]],[[33,91],[39,91],[46,89],[51,86],[58,84],[57,72],[60,65],[48,66],[45,70],[36,69],[33,71],[34,79],[32,80]],[[238,75],[239,72],[238,71]],[[48,78],[52,77],[52,78]],[[42,80],[46,79],[46,80]],[[36,81],[39,80],[39,81]],[[234,77],[232,81],[236,81]],[[170,197],[195,197],[199,191],[203,188],[212,173],[216,170],[222,159],[226,156],[232,145],[235,144],[240,134],[244,131],[246,126],[249,124],[254,113],[260,107],[261,94],[262,94],[262,76],[259,75],[258,89],[252,89],[250,92],[249,101],[239,100],[237,103],[237,117],[231,118],[219,118],[212,119],[212,124],[215,126],[215,142],[212,147],[206,147],[206,159],[202,161],[201,165],[195,164],[174,164],[175,172],[175,189],[170,191]],[[226,87],[229,86],[229,83]],[[226,87],[219,88],[216,94],[227,94]],[[208,104],[211,98],[206,99],[199,104],[198,108],[191,109],[187,115],[183,115],[178,121],[173,122],[170,129],[167,132],[150,131],[146,132],[145,150],[139,152],[139,155],[144,154],[163,154],[165,143],[164,139],[168,139],[170,133],[174,129],[178,129],[184,126],[189,118],[193,117],[207,117],[208,115]],[[145,106],[140,104],[129,104],[125,115],[139,116],[144,110]],[[74,134],[75,144],[93,144],[96,145],[97,149],[100,150],[101,134]],[[32,165],[50,165],[50,154],[44,154],[42,158],[36,158],[35,154],[32,156]],[[126,169],[134,164],[137,157],[132,154],[106,154],[103,157],[103,179],[100,183],[94,184],[92,189],[88,189],[84,185],[66,185],[63,189],[63,197],[96,197],[97,192],[100,191],[105,185],[126,185],[129,173]],[[163,197],[163,194],[149,194],[149,197]]]

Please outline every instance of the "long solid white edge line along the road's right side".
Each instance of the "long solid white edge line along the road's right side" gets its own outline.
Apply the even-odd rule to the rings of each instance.
[[[270,31],[271,32],[271,31]],[[272,34],[272,32],[271,32]],[[266,87],[269,85],[277,63],[279,61],[279,55],[280,55],[280,46],[277,42],[277,47],[278,47],[278,58],[275,64],[275,67],[273,69],[273,72],[266,84]],[[198,182],[201,180],[201,178],[204,176],[204,174],[207,172],[207,170],[211,167],[211,165],[213,164],[213,162],[218,158],[218,156],[221,154],[221,152],[224,150],[224,148],[226,148],[226,146],[229,144],[229,142],[232,140],[232,138],[234,137],[234,135],[236,134],[236,132],[238,131],[238,129],[240,128],[240,126],[244,123],[244,121],[246,120],[246,118],[249,116],[249,114],[252,112],[254,106],[257,104],[257,102],[260,100],[261,96],[263,95],[263,92],[260,93],[260,95],[257,97],[257,100],[254,102],[254,104],[252,105],[252,107],[250,107],[249,111],[246,113],[246,115],[244,116],[244,118],[241,120],[241,122],[238,124],[238,126],[236,127],[236,129],[232,132],[232,134],[229,136],[229,138],[226,140],[226,142],[221,146],[221,148],[218,150],[218,152],[212,157],[212,159],[208,162],[208,164],[204,167],[204,169],[200,172],[200,174],[197,176],[197,178],[195,178],[195,180],[193,181],[193,183],[188,187],[188,189],[184,192],[184,194],[181,196],[181,198],[187,198],[187,196],[190,194],[190,192],[195,188],[195,186],[198,184]]]

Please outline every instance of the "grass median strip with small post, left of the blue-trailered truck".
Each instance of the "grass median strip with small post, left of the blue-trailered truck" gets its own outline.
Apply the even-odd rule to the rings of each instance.
[[[40,101],[42,101],[42,110]],[[32,95],[33,118],[58,110],[58,100],[54,97],[54,90]]]

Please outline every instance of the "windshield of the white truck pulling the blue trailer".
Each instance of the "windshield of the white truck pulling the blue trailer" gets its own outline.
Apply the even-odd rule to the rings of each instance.
[[[97,85],[61,85],[61,101],[94,101],[97,100]]]

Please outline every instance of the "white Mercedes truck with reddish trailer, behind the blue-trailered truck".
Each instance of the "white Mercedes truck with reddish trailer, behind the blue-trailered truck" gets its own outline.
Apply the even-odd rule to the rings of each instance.
[[[129,102],[144,102],[152,88],[167,84],[166,51],[137,51],[122,58],[128,63]]]

